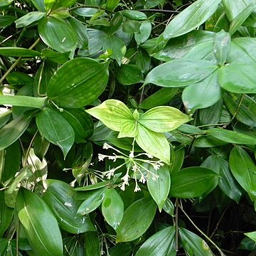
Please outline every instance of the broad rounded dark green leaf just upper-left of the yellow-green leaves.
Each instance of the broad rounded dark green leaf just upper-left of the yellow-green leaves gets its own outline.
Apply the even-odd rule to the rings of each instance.
[[[47,88],[49,99],[61,107],[89,105],[105,90],[109,76],[107,66],[108,63],[97,63],[90,58],[68,61],[50,78]]]

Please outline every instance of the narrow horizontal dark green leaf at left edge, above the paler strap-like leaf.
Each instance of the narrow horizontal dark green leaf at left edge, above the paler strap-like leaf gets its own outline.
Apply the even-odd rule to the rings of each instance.
[[[0,47],[0,55],[33,58],[40,56],[41,53],[21,47]]]

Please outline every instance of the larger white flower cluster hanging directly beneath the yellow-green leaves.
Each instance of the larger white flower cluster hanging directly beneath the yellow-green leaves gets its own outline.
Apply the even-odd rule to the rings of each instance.
[[[120,169],[122,166],[126,166],[126,174],[121,178],[122,184],[120,188],[124,191],[125,186],[129,186],[129,179],[134,178],[135,181],[135,189],[134,192],[141,191],[138,185],[139,182],[145,183],[149,178],[156,180],[158,176],[154,174],[154,172],[149,171],[148,166],[152,166],[155,170],[158,170],[161,166],[164,166],[164,163],[161,160],[155,161],[153,160],[153,156],[147,153],[141,153],[134,156],[134,151],[131,151],[129,156],[124,154],[122,151],[115,149],[110,144],[105,143],[103,145],[103,149],[112,149],[116,151],[116,153],[112,153],[112,155],[98,154],[99,161],[103,161],[104,159],[109,159],[112,161],[117,161],[117,159],[124,159],[124,163],[120,164],[115,168],[110,168],[109,171],[105,171],[104,175],[110,179],[114,176],[115,171]],[[140,156],[146,156],[148,159],[142,159]]]

